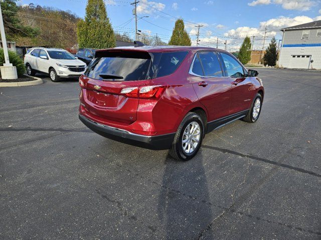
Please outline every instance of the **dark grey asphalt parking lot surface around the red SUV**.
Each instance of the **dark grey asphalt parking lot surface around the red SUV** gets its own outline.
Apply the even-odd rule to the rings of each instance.
[[[321,72],[258,71],[185,162],[86,128],[78,80],[0,88],[0,239],[321,239]]]

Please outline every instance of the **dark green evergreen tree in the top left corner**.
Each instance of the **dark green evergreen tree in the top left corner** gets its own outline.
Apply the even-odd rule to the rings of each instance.
[[[17,6],[16,1],[17,0],[0,1],[7,39],[15,39],[16,36],[37,36],[39,34],[38,27],[24,25],[20,21],[17,14],[19,6]]]

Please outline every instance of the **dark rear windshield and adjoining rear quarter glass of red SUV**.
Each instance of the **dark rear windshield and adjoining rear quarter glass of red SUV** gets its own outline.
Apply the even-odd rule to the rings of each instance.
[[[91,61],[84,73],[86,76],[98,80],[133,81],[172,74],[188,51],[97,53],[98,57]]]

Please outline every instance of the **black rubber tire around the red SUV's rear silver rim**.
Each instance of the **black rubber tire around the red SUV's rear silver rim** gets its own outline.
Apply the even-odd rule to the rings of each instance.
[[[200,126],[200,138],[199,138],[199,142],[197,143],[198,145],[195,147],[195,149],[191,153],[186,153],[183,149],[183,144],[182,144],[184,131],[186,130],[188,125],[192,124],[193,122],[197,122]],[[169,150],[170,155],[173,158],[176,158],[179,160],[189,160],[193,158],[197,154],[197,152],[199,151],[202,145],[203,137],[204,137],[204,122],[202,121],[201,116],[195,112],[189,112],[184,117],[180,126],[177,129],[172,148],[170,148]]]

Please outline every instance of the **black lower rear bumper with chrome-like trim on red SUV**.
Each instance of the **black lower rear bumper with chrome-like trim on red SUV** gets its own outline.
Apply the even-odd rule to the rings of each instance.
[[[130,145],[144,147],[153,150],[164,150],[171,148],[175,136],[175,132],[155,136],[136,134],[127,130],[97,123],[81,114],[79,114],[79,119],[88,128],[104,137],[127,143]]]

